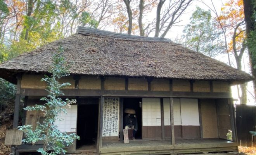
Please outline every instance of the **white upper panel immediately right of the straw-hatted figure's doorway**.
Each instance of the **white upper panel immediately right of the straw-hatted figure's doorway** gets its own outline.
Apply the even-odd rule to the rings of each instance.
[[[160,98],[142,98],[142,126],[161,126]]]

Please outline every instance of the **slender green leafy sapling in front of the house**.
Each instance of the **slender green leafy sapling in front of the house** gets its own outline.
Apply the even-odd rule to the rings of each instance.
[[[70,83],[59,83],[61,77],[69,76],[67,73],[69,66],[65,61],[63,51],[63,48],[60,46],[57,53],[54,53],[52,56],[53,64],[49,70],[52,75],[45,75],[45,77],[41,79],[41,81],[47,83],[46,90],[48,91],[48,95],[40,99],[45,101],[45,104],[24,108],[24,110],[28,111],[42,111],[44,113],[43,122],[37,122],[35,129],[33,129],[32,125],[19,127],[19,130],[25,133],[23,142],[32,143],[32,145],[35,145],[38,141],[44,142],[43,148],[38,149],[38,152],[42,155],[65,154],[67,151],[64,150],[64,147],[71,145],[75,139],[80,138],[75,133],[62,133],[58,127],[54,125],[61,112],[67,114],[67,109],[64,107],[76,103],[76,100],[62,100],[58,97],[59,95],[64,95],[61,88],[71,85]]]

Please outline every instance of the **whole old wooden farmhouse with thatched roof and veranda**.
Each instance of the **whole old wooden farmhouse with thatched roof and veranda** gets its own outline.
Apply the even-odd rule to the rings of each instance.
[[[71,66],[70,76],[61,79],[71,83],[62,97],[77,103],[55,124],[81,139],[67,148],[68,153],[238,151],[230,86],[253,77],[168,39],[82,27],[77,34],[0,64],[0,77],[17,84],[14,128],[21,96],[26,107],[42,103],[39,99],[47,95],[40,79],[48,74],[59,45]],[[126,124],[131,116],[133,127]],[[42,112],[25,112],[22,122],[35,126],[43,117]],[[126,126],[129,143],[123,138]],[[16,153],[40,147],[42,143],[22,144]]]

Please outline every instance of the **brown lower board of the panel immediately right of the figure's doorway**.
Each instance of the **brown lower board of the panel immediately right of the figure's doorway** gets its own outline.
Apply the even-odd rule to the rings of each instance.
[[[142,139],[162,138],[161,126],[142,126]]]

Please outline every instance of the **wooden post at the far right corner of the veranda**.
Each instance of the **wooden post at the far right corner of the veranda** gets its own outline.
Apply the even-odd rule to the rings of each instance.
[[[230,123],[232,128],[232,140],[237,142],[237,128],[235,123],[235,115],[234,115],[234,105],[232,102],[232,98],[228,99],[229,112],[230,112]]]

